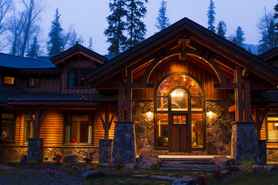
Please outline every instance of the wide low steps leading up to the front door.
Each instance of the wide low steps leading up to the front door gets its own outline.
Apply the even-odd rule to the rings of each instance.
[[[217,166],[212,158],[167,158],[160,157],[160,170],[213,171]]]

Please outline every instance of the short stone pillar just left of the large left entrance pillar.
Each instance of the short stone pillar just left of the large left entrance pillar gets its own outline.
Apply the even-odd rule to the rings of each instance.
[[[113,141],[113,139],[99,139],[98,163],[100,163],[100,164],[110,164],[111,163],[112,141]]]

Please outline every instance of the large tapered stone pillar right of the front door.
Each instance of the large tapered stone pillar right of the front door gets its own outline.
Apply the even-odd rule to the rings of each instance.
[[[241,160],[254,159],[259,164],[259,149],[254,122],[233,122],[232,123],[232,144],[231,157],[236,164]]]

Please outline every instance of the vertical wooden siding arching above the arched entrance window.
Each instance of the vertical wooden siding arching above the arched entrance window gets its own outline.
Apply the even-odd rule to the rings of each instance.
[[[190,62],[190,60],[178,60],[177,58],[173,58],[161,63],[153,70],[153,73],[151,73],[148,83],[154,83],[156,86],[158,82],[165,77],[165,75],[177,72],[189,73],[190,75],[195,76],[195,78],[197,78],[204,87],[206,99],[217,100],[229,98],[230,90],[217,90],[213,88],[215,83],[219,83],[215,74],[212,74],[204,68],[201,68],[199,65]],[[133,90],[134,99],[153,99],[153,97],[153,89]]]

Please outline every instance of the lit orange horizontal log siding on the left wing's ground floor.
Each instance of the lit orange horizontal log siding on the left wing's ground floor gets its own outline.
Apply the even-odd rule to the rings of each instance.
[[[93,142],[95,147],[98,147],[99,139],[104,139],[104,129],[101,118],[94,113],[94,137]],[[110,113],[110,118],[112,117]],[[104,113],[103,113],[104,117]],[[118,116],[115,115],[113,121],[117,121]],[[62,110],[50,110],[46,113],[43,122],[41,123],[40,137],[43,138],[45,146],[63,146],[63,122],[64,112]],[[109,139],[114,138],[115,123],[113,122],[109,130]],[[24,114],[21,111],[16,115],[15,127],[15,142],[16,145],[24,145]],[[3,143],[11,144],[11,143]],[[76,145],[80,146],[80,145]]]

